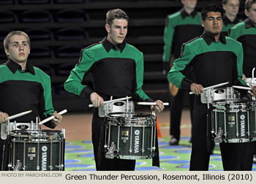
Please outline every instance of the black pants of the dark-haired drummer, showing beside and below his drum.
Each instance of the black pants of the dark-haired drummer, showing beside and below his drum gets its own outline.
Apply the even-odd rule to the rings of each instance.
[[[211,119],[211,118],[208,118]],[[190,158],[191,171],[207,171],[210,160],[211,134],[207,126],[207,105],[200,102],[200,96],[195,96],[195,108],[192,120],[192,153]],[[254,142],[221,143],[222,164],[224,170],[252,170]]]

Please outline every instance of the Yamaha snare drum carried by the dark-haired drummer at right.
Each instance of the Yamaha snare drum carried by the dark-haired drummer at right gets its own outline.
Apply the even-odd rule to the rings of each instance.
[[[226,101],[213,104],[211,133],[215,142],[252,142],[256,140],[254,101]]]

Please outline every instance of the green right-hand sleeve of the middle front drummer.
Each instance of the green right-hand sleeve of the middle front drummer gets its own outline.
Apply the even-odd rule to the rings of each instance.
[[[141,99],[146,100],[149,97],[143,91],[143,73],[144,73],[144,64],[143,64],[143,53],[140,53],[138,61],[136,61],[136,83],[137,83],[137,90],[135,93],[140,96]]]

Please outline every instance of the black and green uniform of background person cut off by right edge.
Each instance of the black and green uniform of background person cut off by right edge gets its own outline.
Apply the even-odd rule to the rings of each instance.
[[[246,77],[252,77],[252,69],[256,67],[256,27],[249,18],[230,28],[230,37],[241,42],[244,49],[243,71]],[[256,74],[256,71],[255,71]]]

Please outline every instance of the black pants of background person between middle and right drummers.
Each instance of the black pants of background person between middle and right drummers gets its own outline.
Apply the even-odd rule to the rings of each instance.
[[[187,90],[179,90],[176,96],[170,94],[170,135],[176,139],[180,139],[181,136],[181,112],[183,109],[184,97],[189,98],[189,110],[190,117],[192,120],[193,107],[194,107],[194,95],[189,95]]]

